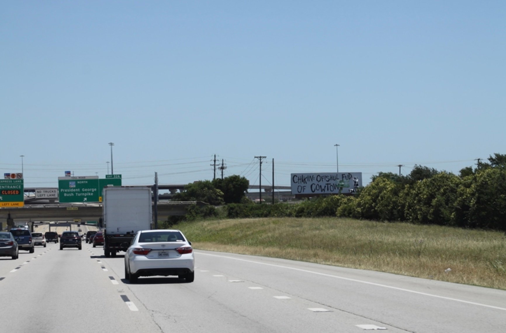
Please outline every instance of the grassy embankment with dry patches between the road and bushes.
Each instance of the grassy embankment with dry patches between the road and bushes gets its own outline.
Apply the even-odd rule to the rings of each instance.
[[[309,261],[506,290],[503,232],[348,218],[183,222],[195,249]],[[451,271],[445,272],[448,268]]]

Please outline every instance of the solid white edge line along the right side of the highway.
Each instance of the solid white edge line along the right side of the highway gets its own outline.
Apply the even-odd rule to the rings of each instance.
[[[458,298],[451,298],[451,297],[439,296],[439,295],[434,295],[434,294],[422,293],[422,292],[417,292],[417,291],[414,291],[414,290],[387,286],[386,284],[380,284],[380,283],[374,283],[374,282],[369,282],[369,281],[357,280],[357,279],[354,279],[354,278],[348,278],[348,277],[343,277],[343,276],[338,276],[338,275],[332,275],[332,274],[325,274],[325,273],[314,272],[314,271],[307,270],[307,269],[288,267],[288,266],[282,266],[282,265],[275,265],[275,264],[268,264],[268,263],[265,263],[265,262],[258,262],[258,261],[254,261],[254,260],[239,259],[239,258],[233,258],[233,257],[227,257],[227,256],[219,256],[219,255],[216,255],[216,254],[201,253],[201,252],[197,252],[197,253],[199,255],[203,255],[203,256],[212,256],[212,257],[227,258],[227,259],[232,259],[232,260],[250,262],[250,263],[254,263],[254,264],[260,264],[260,265],[273,266],[273,267],[278,267],[278,268],[291,269],[291,270],[296,270],[296,271],[299,271],[299,272],[306,272],[306,273],[311,273],[311,274],[316,274],[316,275],[321,275],[321,276],[334,277],[334,278],[339,278],[339,279],[342,279],[342,280],[369,284],[371,286],[376,286],[376,287],[389,288],[389,289],[399,290],[399,291],[403,291],[403,292],[407,292],[407,293],[413,293],[413,294],[418,294],[418,295],[435,297],[435,298],[439,298],[439,299],[443,299],[443,300],[449,300],[449,301],[455,301],[455,302],[460,302],[460,303],[478,305],[478,306],[483,306],[483,307],[486,307],[486,308],[491,308],[491,309],[497,309],[497,310],[506,311],[506,308],[501,308],[501,307],[498,307],[498,306],[493,306],[493,305],[488,305],[488,304],[483,304],[483,303],[470,302],[470,301],[460,300]]]

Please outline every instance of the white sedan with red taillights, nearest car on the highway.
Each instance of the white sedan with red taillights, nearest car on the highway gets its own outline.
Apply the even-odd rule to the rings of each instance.
[[[125,253],[125,279],[135,283],[139,276],[177,275],[193,282],[195,257],[191,242],[180,230],[142,230]]]

